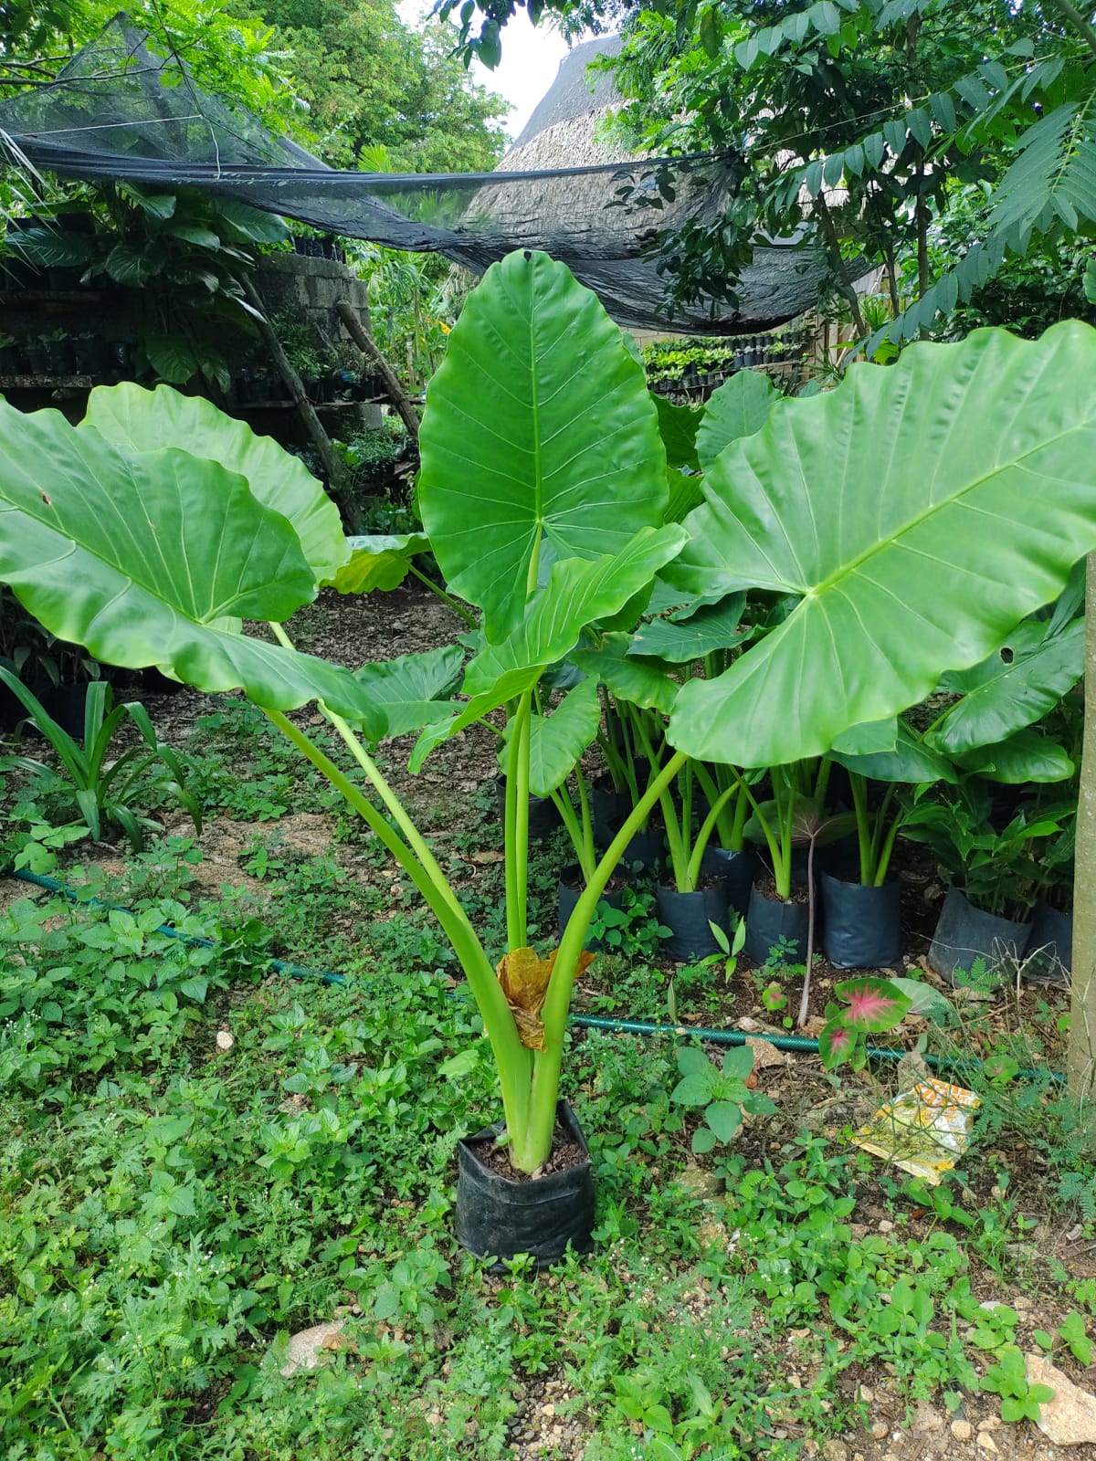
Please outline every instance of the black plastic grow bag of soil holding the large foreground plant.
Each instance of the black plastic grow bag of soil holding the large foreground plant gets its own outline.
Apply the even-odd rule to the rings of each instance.
[[[456,1239],[478,1258],[532,1254],[538,1268],[593,1246],[593,1175],[586,1138],[574,1112],[561,1100],[552,1153],[542,1175],[516,1173],[495,1138],[501,1124],[457,1144]]]

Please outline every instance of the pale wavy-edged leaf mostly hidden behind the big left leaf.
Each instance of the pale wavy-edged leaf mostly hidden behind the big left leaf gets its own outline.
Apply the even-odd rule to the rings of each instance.
[[[305,465],[203,396],[181,396],[170,386],[145,390],[133,381],[96,386],[79,430],[98,431],[132,456],[178,447],[237,472],[265,507],[294,524],[317,583],[333,579],[351,555],[339,508]]]

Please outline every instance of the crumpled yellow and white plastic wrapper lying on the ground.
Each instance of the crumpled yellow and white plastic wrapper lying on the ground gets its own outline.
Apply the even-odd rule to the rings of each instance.
[[[935,1186],[970,1140],[981,1100],[932,1078],[881,1106],[853,1137],[858,1147]]]

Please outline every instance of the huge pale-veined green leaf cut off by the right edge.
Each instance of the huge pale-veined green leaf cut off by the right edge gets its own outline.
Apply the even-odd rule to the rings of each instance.
[[[1096,546],[1093,453],[1096,332],[1076,321],[913,345],[782,405],[720,454],[663,576],[798,602],[722,676],[682,687],[672,744],[798,761],[978,663]]]

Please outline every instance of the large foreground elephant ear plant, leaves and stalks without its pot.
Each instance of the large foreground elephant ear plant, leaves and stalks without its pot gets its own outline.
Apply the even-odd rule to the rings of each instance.
[[[520,253],[473,294],[422,427],[425,527],[449,587],[482,611],[468,700],[443,700],[453,650],[355,674],[292,650],[283,621],[349,558],[323,491],[300,479],[282,489],[295,466],[227,421],[222,447],[208,408],[168,392],[96,393],[80,428],[0,405],[0,581],[107,660],[243,687],[346,796],[453,942],[497,1059],[511,1161],[533,1172],[551,1147],[589,918],[684,752],[756,767],[826,751],[981,660],[1054,598],[1096,546],[1095,365],[1083,326],[1038,345],[983,333],[913,346],[891,370],[864,367],[827,397],[776,406],[720,450],[682,529],[665,520],[694,488],[682,478],[668,491],[639,365],[563,266]],[[189,412],[202,412],[200,432]],[[560,948],[536,953],[526,792],[564,771],[593,728],[589,691],[544,716],[536,685],[582,640],[634,624],[666,573],[712,602],[761,587],[799,605],[723,675],[684,685],[669,728],[681,749],[595,869]],[[243,619],[267,621],[279,643],[243,634]],[[310,700],[359,777],[288,717]],[[422,726],[422,757],[497,710],[509,950],[495,969],[367,742]]]

